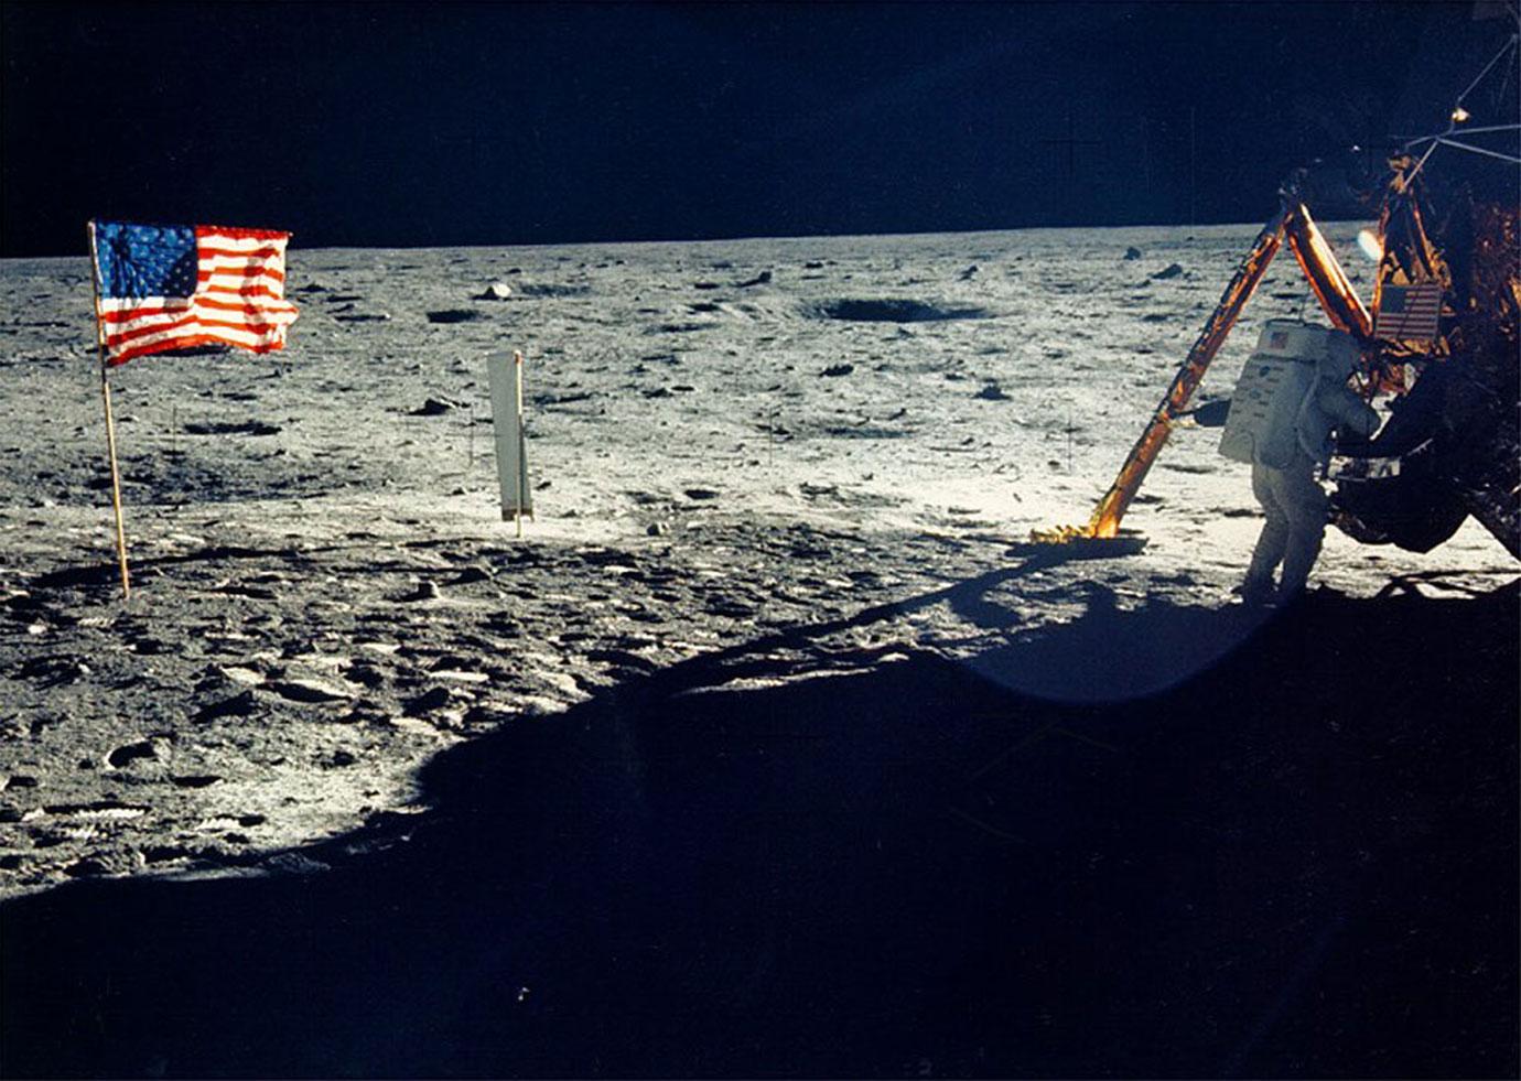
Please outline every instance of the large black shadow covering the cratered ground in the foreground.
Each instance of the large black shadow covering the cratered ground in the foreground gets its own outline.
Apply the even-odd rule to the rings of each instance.
[[[8,905],[0,1066],[1515,1075],[1516,599],[1311,599],[1126,704],[700,658],[450,751],[405,844],[329,871]],[[1159,623],[1240,617],[1066,634]]]

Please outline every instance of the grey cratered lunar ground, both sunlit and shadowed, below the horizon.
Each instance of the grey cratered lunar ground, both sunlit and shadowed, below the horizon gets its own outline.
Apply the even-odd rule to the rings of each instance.
[[[298,248],[283,354],[111,372],[129,601],[88,263],[0,263],[6,1075],[1513,1069],[1504,549],[1243,610],[1203,429],[1018,547],[1255,231]]]

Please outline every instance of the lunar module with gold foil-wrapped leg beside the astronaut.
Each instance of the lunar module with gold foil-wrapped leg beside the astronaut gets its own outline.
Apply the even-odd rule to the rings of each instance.
[[[1486,73],[1513,64],[1516,50],[1512,36]],[[1194,392],[1287,243],[1331,327],[1358,347],[1358,389],[1389,411],[1372,441],[1332,459],[1332,521],[1367,544],[1427,552],[1472,515],[1521,558],[1521,125],[1503,119],[1469,125],[1459,97],[1445,131],[1399,143],[1364,170],[1360,204],[1378,210],[1377,236],[1361,237],[1378,260],[1369,304],[1311,216],[1317,192],[1331,187],[1328,170],[1296,170],[1088,525],[1033,540],[1126,543],[1126,509],[1173,427],[1205,421],[1208,404],[1189,409]],[[1343,192],[1346,176],[1342,169],[1335,179]],[[1285,333],[1269,324],[1253,356],[1282,354],[1290,339],[1275,350],[1270,336]],[[1234,411],[1250,404],[1252,371],[1249,360]],[[1227,455],[1229,441],[1227,430]]]

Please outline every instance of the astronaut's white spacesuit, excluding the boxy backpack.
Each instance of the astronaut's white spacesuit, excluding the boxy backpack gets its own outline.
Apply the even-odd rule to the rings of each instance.
[[[1267,521],[1241,587],[1247,601],[1273,596],[1273,572],[1279,564],[1278,594],[1290,599],[1303,590],[1326,528],[1326,494],[1316,480],[1316,467],[1331,461],[1332,433],[1367,439],[1378,430],[1378,414],[1346,385],[1357,357],[1351,336],[1329,334],[1316,379],[1297,409],[1279,407],[1256,444],[1252,493]]]

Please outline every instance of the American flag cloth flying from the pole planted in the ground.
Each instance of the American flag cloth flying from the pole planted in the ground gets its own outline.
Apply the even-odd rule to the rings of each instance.
[[[106,363],[216,342],[284,348],[289,233],[91,222],[90,234]]]

